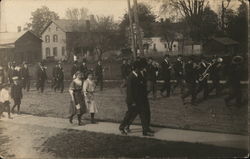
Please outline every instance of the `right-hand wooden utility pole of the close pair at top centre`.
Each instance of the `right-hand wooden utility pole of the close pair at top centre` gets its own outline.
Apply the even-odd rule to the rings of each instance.
[[[135,26],[136,26],[136,39],[139,44],[140,55],[144,56],[144,49],[142,45],[142,37],[141,37],[141,30],[140,30],[140,23],[138,18],[138,11],[137,11],[137,0],[134,0],[134,18],[135,18]]]

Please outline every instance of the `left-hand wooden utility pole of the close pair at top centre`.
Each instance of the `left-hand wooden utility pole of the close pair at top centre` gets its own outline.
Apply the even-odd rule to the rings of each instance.
[[[137,52],[135,49],[135,36],[134,36],[134,28],[133,28],[133,19],[131,15],[130,0],[128,0],[128,15],[129,15],[129,29],[130,29],[133,57],[136,60]]]

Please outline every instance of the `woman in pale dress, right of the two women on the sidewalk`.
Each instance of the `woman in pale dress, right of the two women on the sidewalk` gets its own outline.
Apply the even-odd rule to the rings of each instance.
[[[83,83],[83,93],[87,109],[91,115],[91,123],[95,123],[95,113],[98,112],[96,102],[94,99],[95,82],[93,81],[93,73],[89,72],[87,79]]]

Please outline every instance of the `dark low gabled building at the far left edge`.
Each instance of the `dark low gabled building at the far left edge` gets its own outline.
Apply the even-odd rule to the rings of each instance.
[[[42,40],[31,31],[0,33],[0,62],[35,62],[41,60]]]

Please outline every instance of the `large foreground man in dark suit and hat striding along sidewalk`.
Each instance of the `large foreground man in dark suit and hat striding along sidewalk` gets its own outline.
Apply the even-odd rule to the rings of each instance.
[[[139,61],[134,63],[134,71],[130,73],[127,79],[127,97],[126,103],[128,107],[128,111],[125,114],[125,117],[120,124],[119,130],[122,134],[127,134],[124,130],[125,127],[129,126],[135,117],[139,114],[143,135],[144,136],[153,136],[152,130],[149,128],[149,103],[147,98],[147,88],[146,88],[146,80],[143,79],[142,75],[142,67]]]

